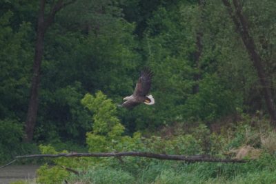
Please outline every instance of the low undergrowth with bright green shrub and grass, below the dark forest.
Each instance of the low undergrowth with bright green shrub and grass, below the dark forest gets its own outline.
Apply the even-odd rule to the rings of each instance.
[[[170,134],[158,132],[146,138],[140,132],[124,134],[116,107],[106,96],[87,94],[81,101],[93,112],[94,124],[86,134],[89,152],[140,151],[165,154],[210,155],[246,159],[247,163],[186,163],[137,157],[58,158],[55,166],[43,165],[37,183],[276,183],[276,135],[268,121],[242,114],[239,121],[221,123],[213,131],[204,123],[178,123]],[[174,130],[175,129],[175,130]],[[42,154],[57,151],[41,145]],[[49,160],[45,160],[50,162]],[[75,174],[69,169],[79,172]]]

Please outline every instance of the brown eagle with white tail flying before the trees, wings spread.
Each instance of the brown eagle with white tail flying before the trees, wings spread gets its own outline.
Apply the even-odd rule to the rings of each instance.
[[[142,70],[133,94],[131,96],[126,96],[124,98],[125,102],[121,106],[130,109],[140,103],[145,103],[146,105],[155,104],[155,99],[153,99],[152,95],[148,95],[148,92],[150,92],[152,76],[153,72],[148,68]]]

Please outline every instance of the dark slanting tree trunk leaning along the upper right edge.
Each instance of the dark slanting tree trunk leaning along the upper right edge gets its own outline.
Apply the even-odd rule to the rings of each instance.
[[[235,12],[231,8],[228,0],[222,0],[224,6],[228,9],[230,17],[233,19],[237,31],[242,37],[242,41],[246,47],[246,50],[250,56],[251,61],[253,61],[253,65],[257,70],[257,74],[259,76],[259,82],[262,85],[264,99],[266,101],[266,107],[268,109],[268,113],[270,114],[270,118],[273,126],[276,126],[276,109],[273,101],[272,92],[269,88],[270,82],[268,81],[268,77],[264,71],[264,66],[262,65],[262,59],[260,55],[257,53],[257,49],[255,46],[255,42],[249,34],[249,27],[246,17],[242,14],[242,6],[239,4],[238,0],[233,0],[233,5],[235,7]]]

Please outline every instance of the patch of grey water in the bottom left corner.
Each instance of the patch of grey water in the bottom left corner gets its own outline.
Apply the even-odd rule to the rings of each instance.
[[[12,181],[26,181],[35,178],[35,171],[39,165],[9,165],[0,168],[0,184],[8,184]]]

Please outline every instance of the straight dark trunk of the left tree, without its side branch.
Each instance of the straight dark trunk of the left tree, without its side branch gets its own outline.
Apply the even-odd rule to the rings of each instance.
[[[28,114],[26,119],[26,141],[32,141],[32,136],[34,133],[34,125],[37,121],[37,110],[39,103],[39,78],[40,78],[40,68],[41,61],[43,57],[43,43],[44,43],[44,9],[45,0],[41,0],[39,18],[37,25],[37,43],[35,45],[34,51],[34,65],[32,74],[32,87],[30,92],[30,102],[28,107]]]

